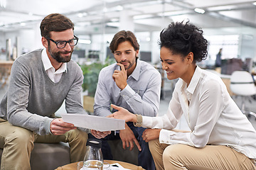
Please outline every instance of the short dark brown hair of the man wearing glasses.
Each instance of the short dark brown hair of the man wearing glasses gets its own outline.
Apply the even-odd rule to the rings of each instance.
[[[51,13],[41,22],[40,30],[42,37],[50,38],[50,31],[61,32],[72,28],[74,23],[60,13]]]

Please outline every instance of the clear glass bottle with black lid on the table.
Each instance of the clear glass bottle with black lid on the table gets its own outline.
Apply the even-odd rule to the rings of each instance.
[[[85,159],[82,170],[102,170],[103,157],[102,157],[102,141],[96,139],[87,140],[87,149],[85,152]]]

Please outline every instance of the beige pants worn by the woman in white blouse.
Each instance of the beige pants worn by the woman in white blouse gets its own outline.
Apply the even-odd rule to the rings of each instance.
[[[149,142],[156,169],[174,170],[253,170],[256,166],[244,154],[221,145],[203,148],[188,145],[166,145],[159,140]]]

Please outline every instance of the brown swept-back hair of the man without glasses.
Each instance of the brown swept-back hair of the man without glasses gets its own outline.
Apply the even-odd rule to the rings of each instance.
[[[135,51],[139,50],[139,43],[137,42],[137,38],[135,37],[134,33],[129,30],[120,30],[114,35],[114,38],[110,42],[110,50],[112,51],[112,53],[114,53],[114,51],[117,50],[118,45],[124,41],[131,42],[132,47],[134,47]]]

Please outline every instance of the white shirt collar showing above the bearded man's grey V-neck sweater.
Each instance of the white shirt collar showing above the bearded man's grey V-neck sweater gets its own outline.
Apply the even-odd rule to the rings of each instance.
[[[53,65],[50,63],[50,59],[46,53],[46,49],[43,49],[42,51],[42,61],[43,61],[43,67],[46,70],[46,73],[51,81],[54,83],[58,83],[60,81],[61,76],[63,72],[67,72],[67,63],[63,63],[61,67],[57,70],[53,67]]]

